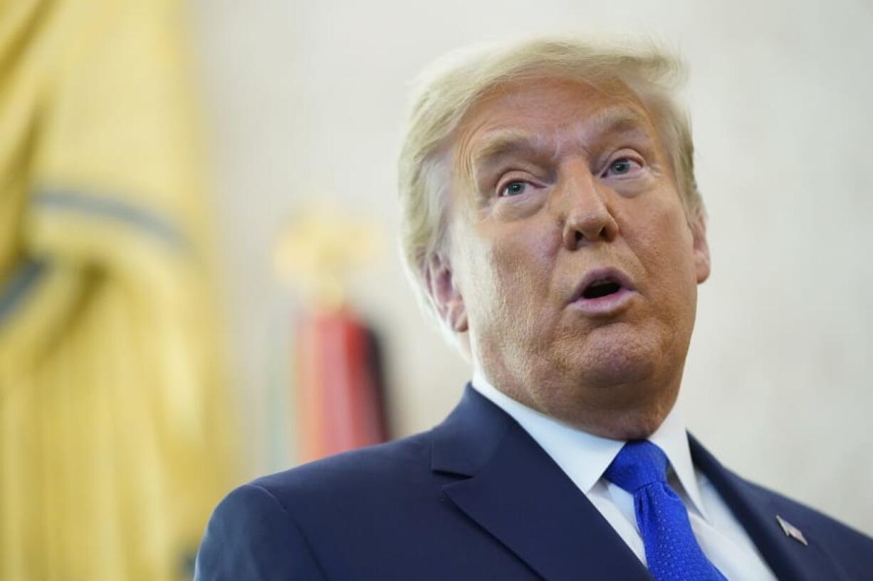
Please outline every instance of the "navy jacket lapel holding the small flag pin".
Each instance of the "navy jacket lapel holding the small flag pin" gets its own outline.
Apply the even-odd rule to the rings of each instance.
[[[694,436],[689,435],[689,443],[694,464],[710,479],[777,578],[792,581],[842,578],[821,544],[816,541],[815,530],[802,526],[803,523],[792,516],[792,502],[733,474]],[[790,523],[801,525],[808,545],[787,536],[776,520],[777,515]]]

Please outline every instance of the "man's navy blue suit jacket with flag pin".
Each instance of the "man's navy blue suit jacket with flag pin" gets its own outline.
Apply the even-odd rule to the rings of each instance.
[[[780,579],[873,579],[873,539],[691,455]],[[779,515],[808,546],[787,537]],[[196,581],[651,579],[588,498],[467,387],[442,424],[266,476],[213,514]]]

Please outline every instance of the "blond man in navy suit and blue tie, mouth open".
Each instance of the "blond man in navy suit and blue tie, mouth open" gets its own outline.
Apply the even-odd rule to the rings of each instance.
[[[471,385],[430,432],[233,491],[197,579],[873,578],[873,540],[684,430],[710,259],[675,72],[546,39],[425,76],[402,246]]]

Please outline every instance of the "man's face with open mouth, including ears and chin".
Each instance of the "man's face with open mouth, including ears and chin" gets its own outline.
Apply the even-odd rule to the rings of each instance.
[[[429,276],[498,389],[645,437],[676,400],[709,255],[649,114],[610,93],[526,80],[473,106],[452,149],[449,255]]]

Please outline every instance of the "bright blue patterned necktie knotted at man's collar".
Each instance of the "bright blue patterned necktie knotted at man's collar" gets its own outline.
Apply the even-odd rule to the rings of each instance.
[[[650,441],[629,441],[604,474],[634,495],[636,524],[657,581],[725,581],[700,550],[688,511],[667,484],[667,456]]]

